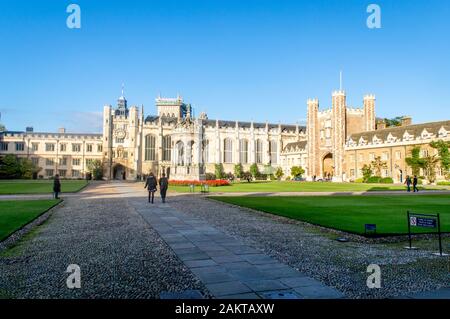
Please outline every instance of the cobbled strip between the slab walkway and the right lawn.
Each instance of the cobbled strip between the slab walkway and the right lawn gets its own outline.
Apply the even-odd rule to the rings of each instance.
[[[170,204],[337,288],[348,298],[390,298],[449,286],[449,260],[429,251],[340,243],[335,234],[318,227],[196,195],[172,196]],[[381,267],[380,289],[367,288],[369,264]]]

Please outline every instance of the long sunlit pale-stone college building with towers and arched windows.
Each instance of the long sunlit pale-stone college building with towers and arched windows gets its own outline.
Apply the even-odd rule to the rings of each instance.
[[[157,97],[156,114],[128,106],[123,95],[116,106],[103,107],[101,134],[25,131],[0,132],[0,156],[29,158],[41,168],[40,178],[59,174],[84,178],[89,164],[100,160],[106,179],[140,179],[165,172],[174,180],[202,180],[222,164],[233,172],[256,163],[261,172],[281,167],[285,176],[292,166],[305,169],[306,178],[353,181],[362,167],[380,156],[386,163],[383,177],[403,181],[411,168],[405,158],[414,146],[421,154],[437,154],[429,143],[450,141],[450,120],[386,128],[376,123],[375,96],[366,95],[361,107],[350,107],[346,93],[332,93],[331,107],[320,110],[318,99],[307,100],[307,125],[271,124],[193,117],[192,107],[178,96]],[[441,169],[437,179],[444,179]]]

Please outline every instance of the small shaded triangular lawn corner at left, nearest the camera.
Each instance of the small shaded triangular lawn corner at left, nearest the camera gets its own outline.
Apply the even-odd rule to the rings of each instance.
[[[0,240],[28,224],[59,200],[0,201]]]

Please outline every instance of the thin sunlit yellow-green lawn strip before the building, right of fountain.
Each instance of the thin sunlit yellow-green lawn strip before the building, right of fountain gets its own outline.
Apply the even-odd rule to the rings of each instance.
[[[450,189],[447,186],[427,186],[419,189]],[[188,193],[188,186],[170,186],[169,189]],[[405,186],[393,184],[363,184],[363,183],[331,183],[331,182],[287,182],[262,181],[233,183],[231,186],[210,187],[212,193],[245,193],[245,192],[353,192],[353,191],[380,191],[380,190],[406,190]],[[200,192],[200,186],[195,187]]]

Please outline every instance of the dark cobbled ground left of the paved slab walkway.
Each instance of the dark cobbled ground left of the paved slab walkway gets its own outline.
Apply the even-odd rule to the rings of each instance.
[[[0,297],[159,298],[203,284],[128,204],[125,184],[101,184],[67,197],[18,246],[0,252]],[[63,196],[64,197],[64,196]],[[81,289],[68,289],[69,264]]]

